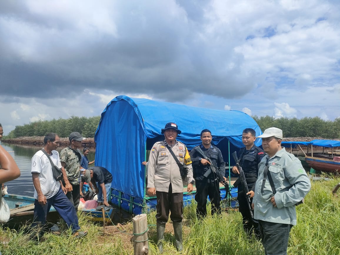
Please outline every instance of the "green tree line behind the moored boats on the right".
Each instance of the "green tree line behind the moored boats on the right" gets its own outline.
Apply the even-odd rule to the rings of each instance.
[[[326,121],[320,117],[304,117],[302,119],[273,116],[252,116],[264,131],[275,127],[282,129],[284,137],[322,137],[328,139],[340,138],[340,118]]]

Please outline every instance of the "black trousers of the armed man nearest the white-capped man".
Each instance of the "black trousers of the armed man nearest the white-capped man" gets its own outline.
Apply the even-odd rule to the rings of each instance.
[[[250,211],[248,207],[248,200],[244,196],[244,192],[242,190],[242,186],[237,187],[238,192],[237,192],[237,200],[239,204],[239,211],[242,214],[242,223],[243,223],[243,229],[244,232],[250,237],[251,233],[254,230],[254,234],[257,238],[261,237],[260,234],[260,227],[258,225],[258,221],[254,220],[250,216]],[[253,202],[253,198],[250,199],[250,202]]]

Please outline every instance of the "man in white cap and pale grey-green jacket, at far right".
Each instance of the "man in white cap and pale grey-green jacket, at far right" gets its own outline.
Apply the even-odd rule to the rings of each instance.
[[[296,225],[295,205],[310,190],[301,162],[281,147],[282,130],[269,128],[258,136],[267,155],[259,164],[253,198],[266,255],[287,254],[289,232]]]

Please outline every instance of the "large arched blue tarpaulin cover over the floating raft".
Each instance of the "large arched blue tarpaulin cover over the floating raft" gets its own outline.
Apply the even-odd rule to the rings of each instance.
[[[144,197],[145,167],[141,163],[148,160],[146,150],[153,144],[147,145],[147,139],[163,140],[161,129],[168,122],[178,125],[182,133],[177,139],[189,150],[202,143],[203,129],[211,130],[215,145],[229,140],[234,148],[243,147],[243,129],[253,128],[256,135],[262,134],[257,123],[243,112],[118,96],[102,112],[95,135],[95,164],[112,173],[113,188],[135,198]],[[259,139],[255,143],[261,144]]]

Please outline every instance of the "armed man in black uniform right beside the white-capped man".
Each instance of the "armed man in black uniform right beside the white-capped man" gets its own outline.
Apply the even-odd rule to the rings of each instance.
[[[245,129],[242,132],[242,142],[245,145],[244,148],[240,149],[238,153],[238,160],[244,175],[246,178],[247,186],[250,194],[250,201],[253,201],[255,182],[257,180],[258,174],[258,164],[260,163],[263,156],[266,154],[261,148],[254,145],[256,140],[256,133],[253,129]],[[233,167],[233,173],[239,173],[236,166]],[[260,228],[258,222],[251,218],[249,207],[247,205],[248,201],[243,193],[242,184],[240,179],[238,179],[234,186],[237,186],[237,200],[239,203],[239,211],[243,218],[243,229],[244,232],[251,238],[251,233],[254,229],[254,234],[256,238],[260,238]]]

